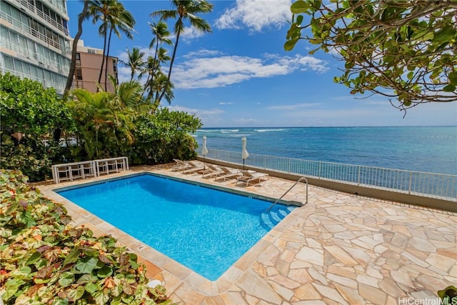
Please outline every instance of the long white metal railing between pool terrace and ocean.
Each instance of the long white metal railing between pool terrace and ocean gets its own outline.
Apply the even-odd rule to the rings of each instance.
[[[201,155],[201,152],[198,152]],[[241,151],[209,149],[206,158],[243,164]],[[388,189],[457,201],[457,175],[249,154],[246,166],[298,174],[315,179]]]

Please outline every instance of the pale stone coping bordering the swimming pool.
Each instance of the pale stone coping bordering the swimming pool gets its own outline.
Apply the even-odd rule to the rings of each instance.
[[[176,279],[179,279],[184,284],[191,286],[200,294],[204,296],[218,296],[219,294],[224,294],[225,292],[229,291],[231,286],[236,283],[236,281],[252,266],[252,264],[258,259],[258,256],[261,256],[268,246],[273,244],[276,239],[283,233],[285,229],[288,228],[294,221],[298,214],[301,214],[301,209],[297,207],[293,209],[291,213],[289,213],[284,219],[282,219],[276,226],[268,231],[259,241],[254,244],[251,249],[248,249],[235,263],[233,263],[229,269],[227,269],[224,274],[222,274],[219,279],[216,281],[210,281],[206,279],[201,274],[192,271],[191,269],[187,268],[186,266],[180,264],[179,262],[171,259],[169,256],[162,254],[160,251],[157,251],[153,247],[144,244],[142,241],[126,234],[124,231],[117,229],[115,226],[109,224],[108,222],[104,221],[103,219],[91,214],[86,209],[81,208],[77,204],[74,204],[69,199],[64,198],[63,196],[59,195],[56,190],[63,190],[66,188],[71,189],[74,186],[81,186],[82,184],[98,184],[103,183],[105,180],[111,179],[123,179],[126,176],[136,176],[139,174],[153,174],[155,176],[161,176],[167,179],[174,179],[176,181],[183,181],[189,184],[197,184],[197,185],[204,185],[205,187],[209,187],[210,189],[219,189],[220,191],[228,191],[235,194],[241,194],[243,196],[251,196],[256,199],[263,199],[268,201],[275,201],[275,199],[262,196],[259,194],[251,193],[248,191],[242,191],[239,189],[233,189],[225,186],[221,186],[219,184],[207,184],[201,183],[199,181],[191,180],[191,176],[189,179],[184,179],[181,177],[176,176],[169,176],[164,174],[166,171],[161,171],[160,173],[151,169],[144,169],[139,171],[124,171],[119,174],[113,174],[110,176],[99,176],[96,178],[79,180],[79,181],[67,181],[61,183],[59,185],[52,184],[49,186],[38,186],[41,190],[41,193],[44,196],[52,199],[56,202],[64,204],[66,209],[69,210],[69,214],[72,217],[73,224],[76,226],[84,225],[88,226],[89,229],[94,231],[94,234],[108,234],[113,236],[114,238],[118,239],[118,242],[122,246],[126,246],[129,251],[134,251],[136,254],[139,254],[142,258],[149,261],[148,267],[154,266],[161,269],[162,273],[159,277],[159,280],[163,280],[166,274],[170,274],[171,276],[175,276]],[[279,201],[281,202],[281,201]],[[283,201],[287,202],[287,201]],[[282,203],[282,202],[281,202]],[[303,204],[303,202],[301,203]],[[305,206],[306,203],[303,204]],[[303,207],[302,206],[302,207]],[[156,275],[158,275],[157,273]],[[154,272],[152,273],[154,274]],[[167,285],[165,285],[168,287]],[[168,289],[168,288],[167,288]],[[174,290],[174,289],[171,289]]]

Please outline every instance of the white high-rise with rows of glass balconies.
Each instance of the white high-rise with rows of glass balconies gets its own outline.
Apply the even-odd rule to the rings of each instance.
[[[71,60],[66,0],[0,0],[0,69],[63,94]]]

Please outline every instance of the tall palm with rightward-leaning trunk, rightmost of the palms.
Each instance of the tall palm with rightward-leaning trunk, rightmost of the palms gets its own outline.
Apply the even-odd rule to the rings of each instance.
[[[171,0],[171,3],[176,9],[163,9],[154,11],[151,14],[152,17],[159,16],[160,19],[164,21],[170,18],[176,19],[176,23],[174,24],[174,34],[176,34],[176,41],[174,43],[173,55],[171,56],[167,83],[170,82],[171,69],[173,68],[174,59],[176,57],[176,49],[178,48],[179,36],[184,31],[184,21],[189,21],[191,26],[193,26],[198,31],[202,31],[204,33],[211,32],[211,26],[209,26],[208,21],[196,15],[201,13],[209,13],[213,9],[213,4],[209,4],[209,2],[206,2],[205,0]],[[168,87],[168,85],[164,86],[164,91],[162,91],[161,95],[159,96],[159,103],[166,94]]]

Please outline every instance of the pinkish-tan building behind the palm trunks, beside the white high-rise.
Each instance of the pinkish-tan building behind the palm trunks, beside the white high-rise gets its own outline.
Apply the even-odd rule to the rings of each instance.
[[[83,88],[91,92],[97,91],[99,81],[101,61],[104,59],[103,50],[84,46],[84,41],[80,39],[76,48],[76,65],[74,69],[73,87]],[[103,74],[101,74],[101,87],[105,88],[105,73],[114,76],[116,84],[118,81],[117,57],[108,57],[108,64],[104,64]],[[106,79],[106,91],[113,92],[114,86],[109,78]]]

